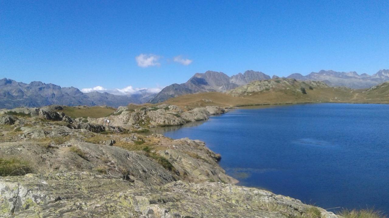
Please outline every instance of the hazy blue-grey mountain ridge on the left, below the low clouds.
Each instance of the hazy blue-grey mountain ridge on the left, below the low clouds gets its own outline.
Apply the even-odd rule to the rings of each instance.
[[[118,107],[129,103],[145,103],[154,96],[155,94],[142,92],[131,96],[112,95],[106,92],[83,93],[78,88],[61,88],[58,85],[39,81],[26,84],[7,78],[0,80],[0,108],[42,107],[51,104]]]

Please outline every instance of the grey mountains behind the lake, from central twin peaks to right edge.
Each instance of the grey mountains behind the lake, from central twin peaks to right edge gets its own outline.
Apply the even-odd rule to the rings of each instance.
[[[279,78],[278,76],[273,76]],[[321,70],[318,73],[312,72],[307,76],[294,73],[287,78],[296,80],[322,81],[331,87],[349,87],[354,89],[370,88],[385,81],[389,81],[389,69],[383,69],[373,74],[357,74],[356,72],[336,72],[332,70]],[[165,87],[150,102],[155,104],[163,102],[172,97],[200,92],[226,92],[233,88],[245,85],[251,81],[270,80],[270,76],[258,71],[245,71],[234,76],[227,76],[222,72],[207,71],[196,73],[186,83],[174,83]]]

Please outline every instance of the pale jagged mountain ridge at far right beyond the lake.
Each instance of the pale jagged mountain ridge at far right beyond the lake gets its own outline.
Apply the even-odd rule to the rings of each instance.
[[[349,87],[349,88],[370,88],[385,81],[389,81],[389,69],[383,69],[377,73],[369,76],[368,74],[357,74],[356,72],[336,72],[321,70],[319,73],[312,72],[307,76],[303,76],[300,73],[294,73],[287,78],[293,78],[296,80],[312,80],[323,81],[332,87]]]

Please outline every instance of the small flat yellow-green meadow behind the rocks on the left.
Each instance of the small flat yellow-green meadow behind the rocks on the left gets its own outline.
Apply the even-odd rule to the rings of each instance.
[[[86,106],[77,106],[77,107],[63,107],[63,111],[67,116],[72,118],[78,117],[90,117],[90,118],[101,118],[108,116],[115,112],[116,109],[113,107],[86,107]]]

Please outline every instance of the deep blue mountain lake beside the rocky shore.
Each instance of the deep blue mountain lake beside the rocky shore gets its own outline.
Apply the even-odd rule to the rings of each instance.
[[[205,141],[239,185],[325,209],[389,212],[389,105],[235,109],[164,131],[171,138]]]

